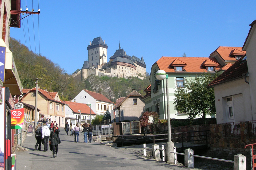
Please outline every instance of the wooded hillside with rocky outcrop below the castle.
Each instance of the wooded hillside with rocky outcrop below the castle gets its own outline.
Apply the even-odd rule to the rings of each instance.
[[[144,90],[149,85],[148,73],[144,80],[137,77],[125,79],[91,75],[83,82],[77,81],[73,79],[72,75],[67,74],[64,68],[61,68],[46,56],[30,51],[24,44],[14,38],[10,38],[10,50],[13,53],[24,89],[34,88],[34,78],[41,78],[39,81],[40,88],[50,92],[58,92],[62,100],[73,99],[82,89],[87,89],[101,93],[115,102],[119,97],[126,97],[132,89],[144,96]]]

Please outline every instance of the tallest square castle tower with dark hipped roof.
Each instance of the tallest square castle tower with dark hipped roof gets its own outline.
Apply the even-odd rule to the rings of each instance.
[[[90,42],[87,46],[90,67],[100,68],[104,63],[107,63],[107,48],[108,45],[101,37],[97,37]]]

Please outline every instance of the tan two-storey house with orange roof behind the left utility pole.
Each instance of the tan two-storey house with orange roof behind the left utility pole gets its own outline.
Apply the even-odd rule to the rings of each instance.
[[[30,89],[20,101],[29,105],[35,105],[36,88]],[[58,92],[48,92],[38,88],[37,108],[44,114],[44,118],[56,121],[59,127],[65,126],[65,105],[60,100]],[[39,118],[39,115],[37,115]],[[36,120],[38,121],[38,120]]]

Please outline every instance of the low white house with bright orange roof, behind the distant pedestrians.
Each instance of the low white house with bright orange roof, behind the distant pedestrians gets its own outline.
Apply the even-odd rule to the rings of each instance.
[[[93,111],[91,112],[91,109],[89,106],[87,106],[84,103],[78,103],[78,102],[70,102],[70,101],[64,101],[66,103],[65,107],[65,113],[66,113],[66,122],[70,125],[72,123],[73,125],[76,125],[76,123],[80,122],[82,124],[87,123],[90,124],[91,119],[94,118],[96,115]],[[81,111],[81,117],[80,117],[80,110]],[[92,113],[92,117],[91,117]]]

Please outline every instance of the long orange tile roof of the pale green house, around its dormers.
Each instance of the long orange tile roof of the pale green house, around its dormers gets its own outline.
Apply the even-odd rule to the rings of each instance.
[[[208,60],[207,62],[216,63],[216,69],[218,70],[221,65],[215,58],[208,58],[208,57],[161,57],[157,60],[157,65],[160,70],[164,70],[167,73],[177,72],[174,70],[174,67],[171,67],[170,64],[175,60],[179,59],[183,63],[187,65],[184,66],[185,71],[182,72],[191,72],[191,73],[203,73],[207,72],[206,68],[202,66],[202,64]]]

